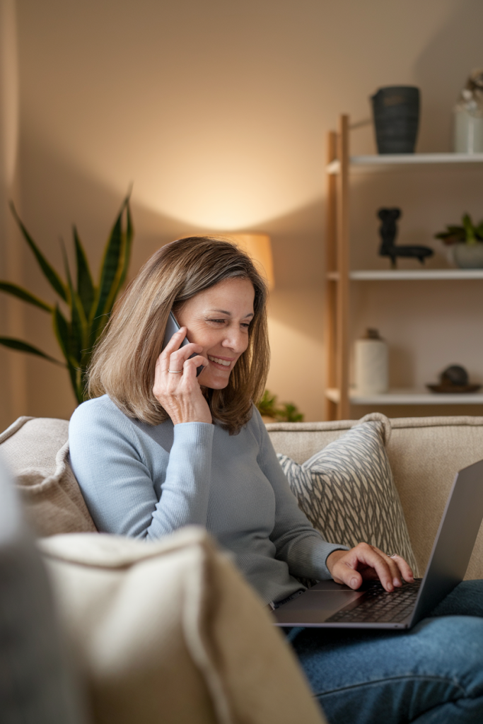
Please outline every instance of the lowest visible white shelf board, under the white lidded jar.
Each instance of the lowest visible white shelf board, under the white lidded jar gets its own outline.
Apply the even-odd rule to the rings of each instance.
[[[339,390],[330,388],[325,396],[333,403],[340,400]],[[460,395],[442,395],[437,392],[415,390],[390,390],[383,395],[358,395],[349,392],[351,405],[483,405],[483,392],[467,392]]]

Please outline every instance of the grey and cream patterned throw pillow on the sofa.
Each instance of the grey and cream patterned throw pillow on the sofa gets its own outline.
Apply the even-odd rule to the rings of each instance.
[[[385,450],[390,432],[387,417],[372,413],[303,465],[277,457],[299,508],[325,539],[349,547],[365,541],[399,553],[417,575]]]

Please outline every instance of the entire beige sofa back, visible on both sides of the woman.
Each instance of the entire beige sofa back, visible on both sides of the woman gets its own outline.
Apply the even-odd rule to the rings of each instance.
[[[356,421],[274,423],[277,452],[303,463]],[[483,458],[482,417],[395,418],[387,446],[413,551],[424,571],[455,473]],[[17,478],[39,536],[96,528],[68,458],[68,422],[19,418],[0,434],[0,452]],[[483,578],[483,526],[466,578]]]

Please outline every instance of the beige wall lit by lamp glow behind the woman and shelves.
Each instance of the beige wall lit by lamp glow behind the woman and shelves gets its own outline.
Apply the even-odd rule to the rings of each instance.
[[[469,70],[483,65],[481,1],[17,0],[17,17],[17,201],[52,261],[60,269],[59,236],[70,239],[76,222],[98,264],[130,182],[132,274],[186,232],[269,232],[277,280],[269,388],[306,419],[322,418],[326,132],[340,112],[369,117],[368,97],[379,86],[415,84],[423,98],[419,151],[450,150],[453,102]],[[353,152],[373,151],[371,127],[354,131]],[[374,212],[384,204],[403,207],[401,240],[404,229],[406,238],[431,243],[434,230],[466,209],[483,216],[482,172],[460,174],[456,184],[445,178],[426,172],[414,182],[402,174],[391,190],[377,177],[354,180],[361,264],[377,264]],[[17,281],[49,296],[28,252],[17,252]],[[366,321],[380,325],[398,380],[429,382],[453,361],[483,380],[482,287],[470,292],[455,283],[446,300],[434,290],[419,290],[416,303],[410,287],[387,287],[396,312],[408,304],[413,326],[367,287],[354,332]],[[443,302],[457,331],[450,338],[438,311]],[[30,342],[56,353],[41,311],[29,308],[25,327]],[[23,412],[70,416],[67,374],[34,358],[26,368]]]

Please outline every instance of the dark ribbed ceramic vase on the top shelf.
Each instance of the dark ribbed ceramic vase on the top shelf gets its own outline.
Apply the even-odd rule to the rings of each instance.
[[[371,96],[378,153],[414,153],[419,125],[419,88],[390,85]]]

